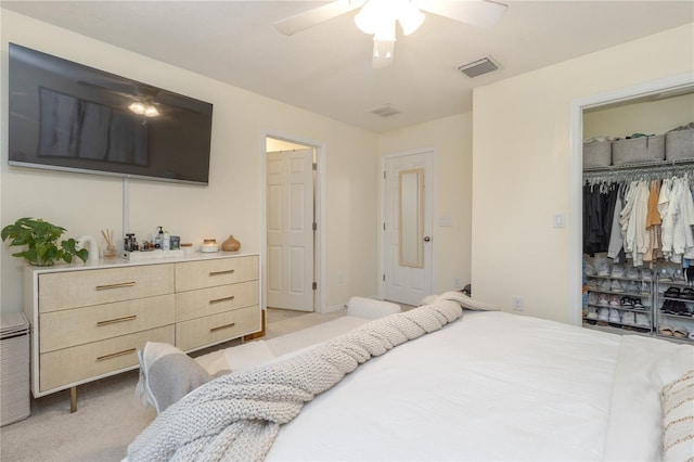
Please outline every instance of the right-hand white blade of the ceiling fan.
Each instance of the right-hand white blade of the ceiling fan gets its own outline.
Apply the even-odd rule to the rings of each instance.
[[[480,27],[497,24],[509,8],[490,0],[419,0],[416,5],[420,10]]]

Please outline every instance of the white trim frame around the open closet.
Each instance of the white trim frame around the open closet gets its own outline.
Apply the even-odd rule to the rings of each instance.
[[[694,86],[694,73],[685,73],[571,101],[569,156],[569,323],[582,323],[583,233],[583,111],[637,98]]]

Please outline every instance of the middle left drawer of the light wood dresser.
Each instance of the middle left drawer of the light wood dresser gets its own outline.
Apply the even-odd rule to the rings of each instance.
[[[52,311],[39,316],[41,352],[176,322],[174,294]]]

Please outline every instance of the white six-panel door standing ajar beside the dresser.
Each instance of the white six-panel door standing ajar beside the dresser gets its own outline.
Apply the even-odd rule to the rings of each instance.
[[[267,153],[267,301],[313,311],[313,150]]]

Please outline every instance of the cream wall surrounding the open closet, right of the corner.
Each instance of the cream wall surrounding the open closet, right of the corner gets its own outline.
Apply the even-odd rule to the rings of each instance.
[[[473,292],[568,322],[570,104],[694,69],[694,24],[478,88],[473,112]],[[553,214],[566,228],[553,228]]]

